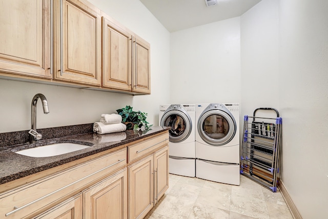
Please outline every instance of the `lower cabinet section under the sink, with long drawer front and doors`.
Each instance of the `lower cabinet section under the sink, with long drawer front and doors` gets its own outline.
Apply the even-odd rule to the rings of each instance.
[[[0,218],[127,218],[126,158],[122,148],[54,174],[45,171],[39,180],[0,193]]]

